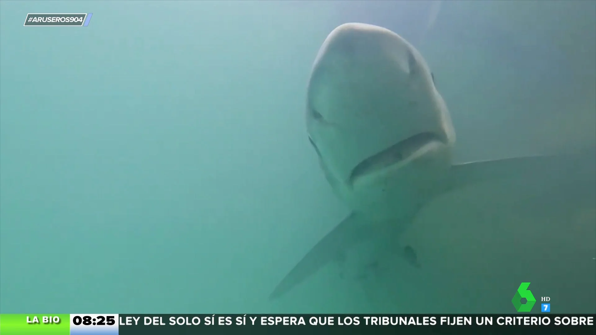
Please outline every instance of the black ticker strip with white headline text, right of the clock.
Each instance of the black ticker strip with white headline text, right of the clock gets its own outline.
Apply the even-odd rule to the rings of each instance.
[[[120,314],[119,334],[596,334],[594,314]]]

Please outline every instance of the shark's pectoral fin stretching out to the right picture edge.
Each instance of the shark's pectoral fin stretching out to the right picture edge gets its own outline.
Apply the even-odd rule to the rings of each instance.
[[[454,165],[448,174],[445,191],[484,181],[507,178],[541,178],[569,182],[593,179],[596,175],[596,150],[579,154],[526,156]]]

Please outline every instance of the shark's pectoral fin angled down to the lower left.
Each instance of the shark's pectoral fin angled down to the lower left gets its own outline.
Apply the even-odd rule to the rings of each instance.
[[[293,289],[294,286],[302,283],[306,278],[315,274],[327,263],[337,260],[338,255],[350,246],[363,241],[370,236],[370,227],[362,221],[356,213],[350,214],[337,227],[333,228],[325,237],[317,243],[306,256],[294,266],[291,271],[285,275],[280,284],[269,296],[269,299],[275,299]]]

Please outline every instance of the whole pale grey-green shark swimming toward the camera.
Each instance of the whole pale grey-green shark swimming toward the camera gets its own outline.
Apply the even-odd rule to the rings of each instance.
[[[432,258],[425,264],[421,257],[432,249],[424,239],[440,240],[433,231],[445,232],[444,225],[440,218],[418,225],[424,228],[415,221],[446,194],[498,180],[519,184],[530,177],[596,174],[592,151],[587,160],[585,154],[555,154],[455,163],[454,126],[429,65],[402,36],[371,24],[342,24],[327,36],[312,66],[305,114],[319,166],[351,212],[285,275],[270,299],[329,263],[342,265],[340,277],[355,278],[380,271],[387,255],[401,259],[402,268],[433,265]],[[592,250],[596,241],[588,244]]]

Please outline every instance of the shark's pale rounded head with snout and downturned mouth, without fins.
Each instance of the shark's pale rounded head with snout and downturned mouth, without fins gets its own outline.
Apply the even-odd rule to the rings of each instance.
[[[420,52],[383,27],[346,23],[325,39],[306,124],[333,190],[352,209],[411,207],[451,166],[455,132]]]

